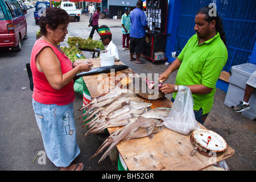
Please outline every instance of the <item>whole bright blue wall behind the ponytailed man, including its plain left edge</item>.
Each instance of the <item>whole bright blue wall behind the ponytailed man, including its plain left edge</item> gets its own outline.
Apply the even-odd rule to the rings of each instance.
[[[166,57],[171,57],[171,52],[181,52],[188,39],[195,34],[195,14],[203,6],[215,2],[217,11],[223,20],[226,32],[228,61],[224,71],[229,71],[233,65],[243,63],[256,64],[256,1],[221,1],[221,0],[169,0]],[[169,61],[170,61],[169,60]]]

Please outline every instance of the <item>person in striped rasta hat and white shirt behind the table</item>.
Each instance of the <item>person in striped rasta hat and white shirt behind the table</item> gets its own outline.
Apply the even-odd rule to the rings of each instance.
[[[107,53],[115,56],[115,61],[119,61],[119,54],[117,46],[113,43],[112,33],[108,26],[102,25],[98,28],[98,34],[100,35],[100,40],[105,46]]]

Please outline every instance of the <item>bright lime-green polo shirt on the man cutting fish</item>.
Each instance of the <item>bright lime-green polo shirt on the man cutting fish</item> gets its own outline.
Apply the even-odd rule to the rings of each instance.
[[[209,94],[192,94],[194,110],[203,108],[203,114],[212,110],[216,82],[228,59],[228,51],[220,38],[220,34],[201,44],[197,35],[193,35],[177,57],[181,61],[176,76],[176,85],[203,84],[213,88]],[[176,93],[172,97],[176,97]]]

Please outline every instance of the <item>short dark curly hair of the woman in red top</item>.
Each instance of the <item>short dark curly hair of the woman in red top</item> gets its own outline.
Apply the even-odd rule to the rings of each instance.
[[[39,27],[43,35],[47,34],[46,25],[49,24],[49,27],[52,30],[55,30],[59,24],[69,23],[72,18],[68,16],[68,13],[57,7],[48,7],[46,13],[43,13],[42,17],[39,20]]]

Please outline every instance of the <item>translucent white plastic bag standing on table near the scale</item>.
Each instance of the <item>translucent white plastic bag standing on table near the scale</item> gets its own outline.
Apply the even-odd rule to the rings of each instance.
[[[190,131],[200,129],[193,111],[193,97],[187,86],[179,85],[174,105],[166,119],[164,125],[177,133],[187,135]]]

